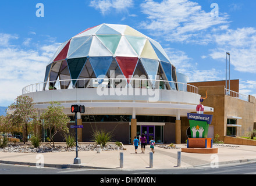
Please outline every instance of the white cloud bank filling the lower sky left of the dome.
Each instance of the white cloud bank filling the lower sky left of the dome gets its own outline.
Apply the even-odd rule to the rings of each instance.
[[[10,45],[10,40],[6,44],[9,46],[0,46],[0,106],[10,105],[27,85],[44,81],[45,68],[59,47],[49,44],[24,50]]]

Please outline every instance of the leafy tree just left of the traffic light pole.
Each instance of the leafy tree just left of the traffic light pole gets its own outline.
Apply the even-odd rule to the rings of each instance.
[[[44,113],[40,116],[43,121],[44,128],[49,129],[50,139],[54,145],[54,135],[59,131],[63,133],[69,133],[69,128],[67,128],[67,123],[69,123],[70,118],[63,112],[64,107],[59,106],[58,102],[51,102],[51,105],[47,107]],[[51,145],[51,143],[50,143]]]

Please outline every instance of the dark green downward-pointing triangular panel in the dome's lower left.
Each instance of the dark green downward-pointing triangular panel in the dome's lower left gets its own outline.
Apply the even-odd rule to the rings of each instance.
[[[68,59],[67,66],[69,67],[69,73],[72,79],[77,79],[81,73],[81,70],[86,63],[87,58]],[[73,85],[76,84],[76,80],[72,80]]]

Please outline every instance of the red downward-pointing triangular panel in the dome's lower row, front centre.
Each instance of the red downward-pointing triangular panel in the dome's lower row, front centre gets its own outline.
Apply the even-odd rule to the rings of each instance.
[[[138,58],[116,57],[116,61],[118,62],[123,75],[126,78],[129,78],[129,76],[133,75],[134,69],[138,62]],[[127,80],[127,82],[129,83],[129,80]]]

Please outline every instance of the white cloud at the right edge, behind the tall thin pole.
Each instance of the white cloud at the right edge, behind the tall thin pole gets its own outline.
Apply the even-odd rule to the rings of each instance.
[[[211,50],[212,59],[225,60],[230,52],[230,64],[241,72],[256,73],[256,29],[251,27],[227,29],[213,35],[216,48]]]

